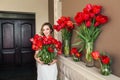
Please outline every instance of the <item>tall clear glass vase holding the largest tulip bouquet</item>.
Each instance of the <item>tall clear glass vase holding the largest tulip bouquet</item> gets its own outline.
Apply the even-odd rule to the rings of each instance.
[[[93,42],[92,41],[86,42],[85,49],[86,49],[86,54],[85,54],[86,66],[93,67],[94,60],[93,60],[92,55],[91,55],[91,53],[93,52]]]

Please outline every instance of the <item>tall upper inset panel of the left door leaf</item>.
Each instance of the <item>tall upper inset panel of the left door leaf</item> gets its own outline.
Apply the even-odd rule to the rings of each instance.
[[[2,42],[3,49],[4,48],[14,48],[14,24],[12,23],[4,23],[2,24]]]

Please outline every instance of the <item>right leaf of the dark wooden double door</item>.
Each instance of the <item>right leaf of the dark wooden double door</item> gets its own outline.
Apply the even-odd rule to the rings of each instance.
[[[22,64],[34,63],[33,51],[31,50],[30,38],[33,36],[32,32],[34,23],[33,21],[21,21],[20,23],[20,50],[21,50],[21,59]]]

